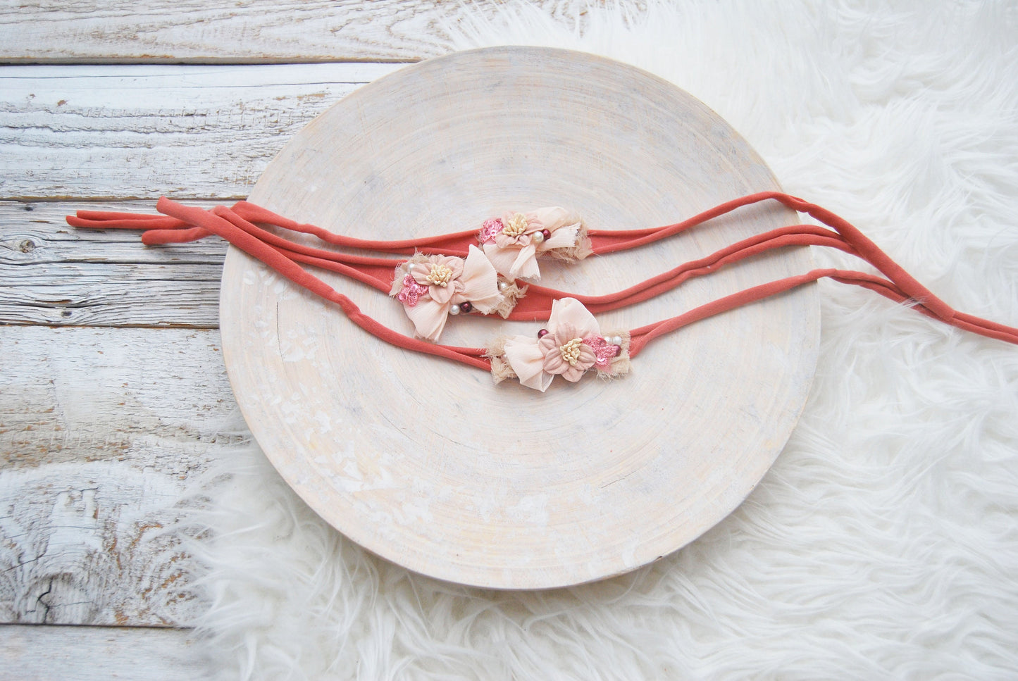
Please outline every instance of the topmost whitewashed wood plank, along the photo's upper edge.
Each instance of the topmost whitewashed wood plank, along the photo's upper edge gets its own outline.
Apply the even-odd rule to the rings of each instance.
[[[586,3],[535,0],[575,21]],[[0,58],[31,62],[414,61],[451,49],[456,0],[81,0],[0,8]]]

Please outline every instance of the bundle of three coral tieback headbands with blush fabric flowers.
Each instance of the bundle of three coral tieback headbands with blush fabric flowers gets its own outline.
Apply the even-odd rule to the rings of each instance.
[[[792,225],[758,234],[705,258],[682,264],[639,284],[607,295],[583,295],[540,286],[538,259],[578,262],[668,238],[741,207],[777,201],[827,225]],[[517,378],[545,391],[555,376],[578,381],[592,370],[603,378],[629,371],[629,359],[651,341],[699,320],[830,278],[875,291],[896,302],[959,329],[1018,344],[1018,329],[959,313],[932,294],[857,228],[813,204],[777,191],[749,194],[682,222],[636,230],[588,229],[574,213],[546,208],[508,213],[479,229],[450,234],[375,241],[299,224],[247,202],[211,211],[160,198],[159,215],[78,211],[67,216],[74,227],[144,229],[146,244],[190,241],[217,234],[313,293],[335,302],[357,326],[398,347],[453,359],[492,372],[496,381]],[[165,216],[165,217],[164,217]],[[340,248],[402,253],[409,259],[373,258],[317,248],[268,231],[309,234]],[[830,229],[829,229],[830,228]],[[692,277],[710,274],[760,252],[796,245],[838,248],[860,258],[882,275],[815,269],[747,288],[655,324],[603,333],[593,314],[634,304],[668,291]],[[412,322],[416,337],[398,333],[362,314],[350,298],[305,270],[329,270],[395,297]],[[449,316],[498,314],[509,320],[547,321],[533,336],[496,339],[487,348],[453,347],[437,341]]]

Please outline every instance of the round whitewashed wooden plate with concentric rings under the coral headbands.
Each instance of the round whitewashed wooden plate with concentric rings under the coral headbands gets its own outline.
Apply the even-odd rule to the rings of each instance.
[[[514,47],[361,88],[290,140],[250,201],[332,231],[404,238],[554,205],[591,228],[657,226],[775,188],[746,141],[674,86],[588,54]],[[795,219],[742,210],[653,247],[543,263],[542,283],[607,293]],[[810,267],[807,249],[773,253],[601,326],[633,328]],[[321,276],[411,333],[392,299]],[[386,345],[231,248],[221,326],[254,437],[327,521],[428,575],[542,588],[644,565],[735,509],[798,418],[819,324],[807,287],[660,339],[624,379],[556,381],[541,394]],[[442,340],[485,346],[540,328],[459,317]]]

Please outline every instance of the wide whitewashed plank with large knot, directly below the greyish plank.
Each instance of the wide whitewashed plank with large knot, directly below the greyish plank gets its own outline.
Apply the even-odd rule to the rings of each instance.
[[[172,526],[230,437],[215,331],[0,327],[0,622],[177,625]]]

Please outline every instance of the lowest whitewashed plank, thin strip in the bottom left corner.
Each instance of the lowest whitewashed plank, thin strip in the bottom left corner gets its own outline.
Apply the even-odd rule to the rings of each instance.
[[[186,629],[0,626],[0,681],[197,681],[214,661]]]

